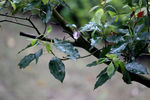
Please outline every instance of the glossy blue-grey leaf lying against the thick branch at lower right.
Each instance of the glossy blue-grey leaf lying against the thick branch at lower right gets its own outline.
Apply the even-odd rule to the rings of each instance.
[[[128,63],[126,64],[125,67],[129,72],[132,72],[135,74],[148,74],[146,68],[138,62]]]

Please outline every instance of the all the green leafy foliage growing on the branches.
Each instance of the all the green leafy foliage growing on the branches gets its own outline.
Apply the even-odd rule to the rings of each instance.
[[[70,1],[72,6],[78,5],[82,8],[81,0],[76,1],[79,2],[79,4],[72,2]],[[2,3],[1,10],[9,9],[12,14],[20,12],[30,13],[32,16],[39,16],[46,25],[52,18],[54,13],[53,10],[55,10],[55,7],[57,7],[58,4],[61,4],[70,10],[70,7],[63,0],[9,0],[6,3],[2,1]],[[79,11],[81,11],[81,13],[85,12],[82,10]],[[74,13],[76,12],[77,11],[74,11]],[[100,43],[104,44],[102,48],[98,48],[100,49],[99,51],[101,51],[98,60],[88,64],[87,67],[93,67],[102,63],[108,65],[97,76],[97,82],[94,89],[111,79],[112,76],[115,75],[115,72],[119,70],[123,75],[122,79],[127,84],[131,84],[132,81],[130,73],[148,74],[146,68],[142,64],[136,62],[136,58],[143,53],[146,55],[149,55],[150,53],[150,14],[148,0],[100,0],[99,5],[95,5],[91,8],[90,12],[94,13],[94,15],[91,16],[91,20],[80,29],[74,27],[76,26],[74,24],[66,25],[69,29],[73,30],[73,33],[76,33],[75,35],[68,33],[72,38],[74,37],[73,39],[75,41],[73,42],[60,39],[51,39],[48,41],[46,37],[52,30],[51,26],[47,28],[47,31],[45,30],[45,32],[41,34],[30,18],[23,19],[32,24],[32,27],[37,31],[38,36],[36,36],[30,44],[20,52],[30,47],[43,45],[48,53],[54,55],[49,62],[51,74],[56,79],[63,82],[65,78],[65,65],[62,62],[63,60],[76,60],[88,57],[97,52],[94,51],[88,56],[80,57],[77,48],[75,48],[73,44],[77,43],[78,46],[81,46],[82,42],[78,41],[86,38],[88,41],[87,43],[91,44],[91,47],[89,48],[90,52],[96,45],[99,45]],[[78,20],[80,21],[82,18]],[[59,51],[65,53],[67,57],[65,59],[56,57],[52,51],[52,45]],[[86,47],[85,44],[84,46]],[[84,48],[84,46],[81,47]],[[42,54],[42,49],[36,53],[31,53],[25,56],[18,65],[20,68],[26,68],[34,59],[37,63]]]

